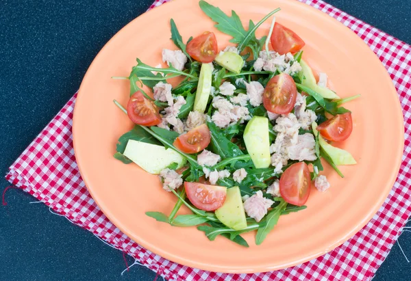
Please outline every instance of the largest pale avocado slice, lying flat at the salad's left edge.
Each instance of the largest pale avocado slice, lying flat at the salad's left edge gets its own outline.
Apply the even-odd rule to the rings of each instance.
[[[170,148],[134,139],[129,139],[123,154],[150,174],[160,174],[173,163],[177,163],[177,169],[182,168],[187,162],[182,155]]]

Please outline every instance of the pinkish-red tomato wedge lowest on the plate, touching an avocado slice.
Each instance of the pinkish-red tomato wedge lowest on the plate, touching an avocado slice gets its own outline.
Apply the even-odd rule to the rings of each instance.
[[[203,183],[185,182],[188,200],[203,211],[214,211],[223,206],[227,196],[227,187],[204,185]]]

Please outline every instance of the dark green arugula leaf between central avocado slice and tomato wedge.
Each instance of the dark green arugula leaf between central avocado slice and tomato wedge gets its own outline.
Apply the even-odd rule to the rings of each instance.
[[[207,125],[211,133],[211,142],[208,147],[212,152],[220,155],[221,159],[244,154],[236,144],[233,144],[227,137],[225,137],[224,133],[216,126],[216,124],[207,122]]]

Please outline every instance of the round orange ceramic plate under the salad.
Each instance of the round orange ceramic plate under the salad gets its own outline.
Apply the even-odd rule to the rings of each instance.
[[[285,215],[260,246],[255,233],[244,235],[245,248],[223,237],[208,241],[195,227],[178,228],[147,217],[147,211],[170,213],[176,202],[162,190],[157,176],[112,157],[120,135],[132,128],[113,103],[126,105],[127,76],[136,57],[156,66],[162,48],[175,49],[170,38],[174,18],[184,40],[214,31],[219,49],[229,36],[214,28],[197,1],[173,1],[142,14],[121,29],[92,62],[75,104],[73,121],[77,163],[88,190],[101,210],[126,235],[147,249],[177,263],[219,272],[260,272],[283,269],[321,256],[347,241],[377,212],[388,195],[403,151],[403,118],[397,92],[384,66],[362,40],[327,14],[297,1],[210,1],[224,12],[236,10],[248,25],[277,7],[277,21],[306,42],[304,58],[332,79],[342,97],[361,94],[346,105],[353,111],[351,137],[340,144],[358,165],[342,166],[345,178],[326,167],[332,187],[325,193],[312,188],[308,208]],[[268,33],[270,21],[258,30]],[[149,157],[149,155],[142,155]],[[182,210],[186,212],[186,210]],[[245,258],[249,256],[250,258]]]

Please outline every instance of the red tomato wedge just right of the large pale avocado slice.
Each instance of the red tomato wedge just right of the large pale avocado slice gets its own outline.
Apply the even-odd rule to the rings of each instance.
[[[184,153],[197,153],[210,144],[210,130],[206,124],[195,127],[175,139],[173,145]]]

